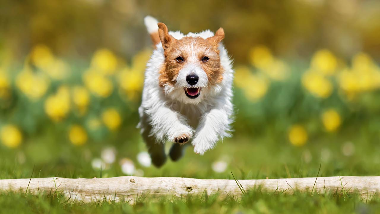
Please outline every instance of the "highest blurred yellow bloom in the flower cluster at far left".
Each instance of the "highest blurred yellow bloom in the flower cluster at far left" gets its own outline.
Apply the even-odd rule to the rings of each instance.
[[[35,46],[30,59],[40,69],[48,69],[54,62],[54,56],[46,45]]]

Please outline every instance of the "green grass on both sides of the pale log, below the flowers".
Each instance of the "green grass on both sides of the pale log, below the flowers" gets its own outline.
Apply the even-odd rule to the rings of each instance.
[[[366,135],[366,125],[356,132],[350,127],[336,134],[312,137],[303,147],[294,147],[287,140],[270,133],[258,136],[239,135],[219,142],[204,156],[193,153],[188,147],[184,158],[170,160],[160,169],[143,167],[136,154],[145,150],[138,134],[114,136],[110,144],[89,143],[74,147],[67,143],[50,141],[48,136],[36,137],[19,150],[1,149],[0,179],[31,177],[114,177],[123,176],[119,160],[130,158],[146,177],[193,177],[202,179],[241,179],[369,176],[378,175],[380,157],[377,135]],[[123,133],[123,132],[121,132]],[[137,132],[136,132],[137,133]],[[128,139],[119,142],[117,139]],[[347,142],[351,153],[344,152]],[[136,142],[136,143],[132,143]],[[102,169],[93,169],[91,161],[100,157],[105,147],[116,148],[116,161]],[[169,146],[169,145],[168,145]],[[38,152],[40,151],[40,152]],[[47,153],[46,153],[47,152]],[[22,161],[24,158],[24,161]],[[212,170],[217,160],[228,164],[224,172]],[[232,173],[231,173],[232,172]],[[22,193],[0,194],[0,212],[9,213],[373,213],[380,210],[380,196],[369,193],[366,200],[355,192],[348,192],[342,183],[337,192],[317,193],[289,191],[266,192],[260,189],[241,189],[242,198],[226,198],[205,194],[186,198],[151,198],[136,195],[133,204],[98,201],[83,204],[68,202],[59,191],[31,195]],[[291,187],[289,187],[291,188]],[[313,188],[314,189],[314,188]],[[293,192],[293,191],[292,191]]]

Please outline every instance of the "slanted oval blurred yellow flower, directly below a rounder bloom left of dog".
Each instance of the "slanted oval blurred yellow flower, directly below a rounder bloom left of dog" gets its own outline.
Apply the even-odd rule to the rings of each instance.
[[[87,70],[83,75],[86,87],[95,95],[108,97],[112,93],[112,82],[96,70]]]

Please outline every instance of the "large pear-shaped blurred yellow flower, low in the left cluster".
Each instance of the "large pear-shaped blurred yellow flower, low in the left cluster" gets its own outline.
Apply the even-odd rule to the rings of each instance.
[[[45,112],[58,122],[66,117],[70,110],[70,93],[67,86],[61,86],[55,95],[47,97],[45,101]]]

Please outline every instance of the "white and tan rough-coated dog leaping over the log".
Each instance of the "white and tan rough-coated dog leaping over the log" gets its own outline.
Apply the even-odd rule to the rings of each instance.
[[[144,18],[155,50],[147,62],[138,128],[156,167],[179,160],[191,142],[203,155],[231,137],[233,69],[222,40],[224,30],[182,34],[155,18]]]

